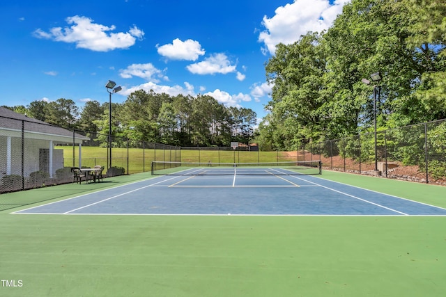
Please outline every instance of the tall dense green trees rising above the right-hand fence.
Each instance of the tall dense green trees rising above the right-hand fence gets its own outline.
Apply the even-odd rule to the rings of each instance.
[[[353,0],[327,31],[277,45],[258,143],[295,150],[373,132],[376,72],[378,129],[446,118],[445,15],[446,1]]]

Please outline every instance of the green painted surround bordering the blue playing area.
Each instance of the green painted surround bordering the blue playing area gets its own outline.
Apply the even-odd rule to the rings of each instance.
[[[54,200],[146,175],[1,195]],[[323,178],[446,207],[446,188]],[[0,212],[0,296],[444,296],[445,216]]]

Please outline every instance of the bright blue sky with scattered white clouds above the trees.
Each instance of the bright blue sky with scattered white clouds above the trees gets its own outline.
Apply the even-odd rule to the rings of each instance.
[[[2,1],[0,106],[108,102],[133,90],[212,95],[254,110],[270,100],[264,64],[279,42],[328,29],[348,0]]]

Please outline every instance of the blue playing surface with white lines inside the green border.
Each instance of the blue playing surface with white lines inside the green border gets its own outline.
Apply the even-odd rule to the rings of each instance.
[[[446,216],[446,209],[312,175],[271,172],[160,176],[15,214]]]

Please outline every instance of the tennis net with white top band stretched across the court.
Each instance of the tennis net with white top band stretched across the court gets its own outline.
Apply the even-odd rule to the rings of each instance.
[[[152,175],[321,175],[321,161],[197,163],[152,161]]]

